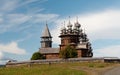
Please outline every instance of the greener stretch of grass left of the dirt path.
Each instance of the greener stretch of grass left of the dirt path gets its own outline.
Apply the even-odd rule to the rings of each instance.
[[[69,65],[52,64],[0,68],[0,75],[87,75],[87,73],[69,68]]]

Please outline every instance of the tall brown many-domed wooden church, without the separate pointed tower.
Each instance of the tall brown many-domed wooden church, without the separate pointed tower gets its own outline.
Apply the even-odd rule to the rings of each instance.
[[[70,20],[67,24],[67,28],[64,27],[61,29],[60,38],[60,50],[64,50],[67,45],[75,48],[78,52],[78,57],[92,57],[92,47],[89,42],[87,35],[81,29],[81,25],[78,21],[74,24],[74,27],[71,24]]]

